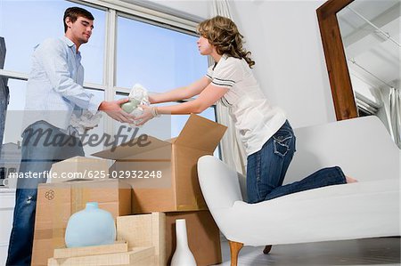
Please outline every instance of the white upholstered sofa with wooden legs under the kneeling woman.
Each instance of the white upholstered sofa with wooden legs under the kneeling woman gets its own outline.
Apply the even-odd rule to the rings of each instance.
[[[401,152],[377,117],[298,128],[297,152],[284,183],[340,165],[359,182],[246,203],[245,179],[216,157],[198,162],[201,190],[230,241],[265,246],[400,235]]]

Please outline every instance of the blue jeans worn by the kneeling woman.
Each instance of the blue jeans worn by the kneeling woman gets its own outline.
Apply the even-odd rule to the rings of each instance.
[[[262,149],[248,157],[247,191],[249,203],[258,203],[307,189],[346,183],[340,167],[323,168],[301,181],[282,186],[295,152],[295,135],[288,121],[274,133]]]

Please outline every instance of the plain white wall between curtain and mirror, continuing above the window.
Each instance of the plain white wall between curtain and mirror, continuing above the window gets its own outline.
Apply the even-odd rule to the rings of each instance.
[[[212,1],[151,0],[201,18]],[[335,121],[316,9],[324,1],[231,0],[233,20],[256,60],[267,98],[294,127]],[[194,48],[195,49],[195,48]]]

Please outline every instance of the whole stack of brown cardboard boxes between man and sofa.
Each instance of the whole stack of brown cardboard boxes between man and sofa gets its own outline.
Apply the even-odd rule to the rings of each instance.
[[[87,173],[96,165],[95,169],[102,171],[96,173],[98,177],[104,177],[104,168],[108,168],[107,177],[112,179],[39,186],[32,265],[46,265],[53,250],[64,246],[70,215],[83,209],[87,201],[99,202],[100,208],[117,219],[118,239],[128,240],[128,249],[153,246],[157,265],[171,261],[176,247],[175,221],[183,218],[197,264],[220,263],[220,235],[202,197],[196,164],[199,157],[213,154],[225,129],[192,115],[174,140],[149,137],[146,146],[120,145],[96,153],[94,156],[103,159],[90,159],[95,162],[89,165],[83,157],[53,165],[53,171],[86,172],[86,178],[95,177],[96,170],[91,176]],[[108,159],[114,160],[110,168]]]

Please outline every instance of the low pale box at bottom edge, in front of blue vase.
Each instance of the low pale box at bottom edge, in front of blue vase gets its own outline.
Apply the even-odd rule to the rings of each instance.
[[[99,254],[79,256],[64,259],[50,258],[48,266],[110,266],[110,265],[154,265],[154,247],[141,246],[130,249],[128,252],[115,254]]]

